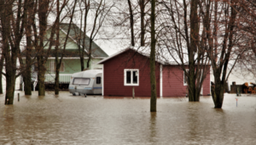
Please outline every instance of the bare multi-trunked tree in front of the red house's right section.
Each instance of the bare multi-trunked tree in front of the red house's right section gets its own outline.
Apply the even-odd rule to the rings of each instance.
[[[190,3],[190,5],[189,5]],[[189,102],[199,102],[204,79],[209,73],[204,31],[198,0],[160,2],[158,11],[159,55],[166,63],[175,62],[188,84]]]

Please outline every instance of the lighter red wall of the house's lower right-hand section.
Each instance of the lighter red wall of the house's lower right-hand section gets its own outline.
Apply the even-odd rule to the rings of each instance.
[[[186,96],[187,85],[183,84],[183,70],[178,66],[163,66],[163,96]],[[203,83],[203,95],[210,94],[210,73]]]

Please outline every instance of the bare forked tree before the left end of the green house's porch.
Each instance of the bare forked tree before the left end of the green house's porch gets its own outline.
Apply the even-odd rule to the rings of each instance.
[[[61,11],[67,6],[68,1],[67,0],[63,1],[61,5],[61,9],[59,13],[56,15],[54,23],[50,28],[49,38],[47,38],[45,35],[47,31],[47,26],[48,26],[47,18],[49,16],[50,10],[53,7],[54,2],[49,0],[42,0],[38,2],[36,1],[36,3],[37,5],[35,6],[35,8],[38,8],[38,23],[35,21],[35,19],[32,22],[32,26],[33,26],[32,30],[33,30],[33,38],[34,38],[33,46],[37,53],[38,96],[44,96],[45,95],[44,74],[46,72],[45,63],[48,60],[49,52],[51,51],[51,48],[55,43],[53,39],[55,36],[55,29],[56,29],[56,25],[58,24]],[[38,24],[38,27],[37,27],[37,24]],[[44,45],[45,39],[49,39],[48,48],[45,48],[45,45]],[[44,50],[46,50],[46,52]]]

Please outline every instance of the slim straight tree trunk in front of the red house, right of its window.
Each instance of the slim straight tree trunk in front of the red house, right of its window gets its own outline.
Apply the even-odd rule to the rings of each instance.
[[[151,84],[151,99],[150,99],[150,112],[156,112],[156,81],[155,81],[155,30],[154,30],[154,21],[155,21],[155,0],[151,1],[151,51],[150,51],[150,84]]]

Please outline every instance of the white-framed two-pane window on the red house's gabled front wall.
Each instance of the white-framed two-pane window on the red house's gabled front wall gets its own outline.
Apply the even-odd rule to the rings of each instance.
[[[139,85],[139,70],[138,69],[125,69],[124,82],[127,86]]]

